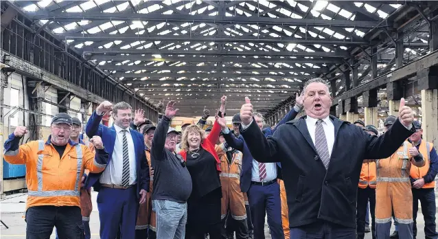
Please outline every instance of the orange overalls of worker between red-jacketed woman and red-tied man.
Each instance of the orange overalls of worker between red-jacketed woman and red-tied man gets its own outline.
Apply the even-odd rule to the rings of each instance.
[[[216,145],[216,153],[220,159],[220,184],[222,185],[221,218],[224,219],[228,211],[234,220],[246,219],[244,195],[240,191],[240,171],[242,170],[242,152],[233,153],[229,163],[227,149],[223,144]]]

